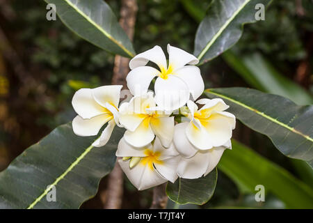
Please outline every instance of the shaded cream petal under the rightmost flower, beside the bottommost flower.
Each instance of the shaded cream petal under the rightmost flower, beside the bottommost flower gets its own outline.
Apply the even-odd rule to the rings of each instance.
[[[200,178],[207,171],[209,153],[199,151],[189,159],[182,158],[177,167],[177,174],[181,178]]]

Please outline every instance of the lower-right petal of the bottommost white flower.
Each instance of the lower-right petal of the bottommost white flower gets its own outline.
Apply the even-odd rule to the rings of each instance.
[[[176,170],[180,159],[180,156],[172,157],[170,159],[163,160],[162,163],[155,163],[154,166],[161,176],[174,183],[178,178]]]

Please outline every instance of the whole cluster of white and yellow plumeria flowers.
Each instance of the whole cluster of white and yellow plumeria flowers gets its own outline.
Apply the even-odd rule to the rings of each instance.
[[[80,89],[72,99],[75,134],[97,135],[107,123],[93,146],[104,146],[115,125],[126,129],[116,156],[138,190],[207,176],[232,148],[236,118],[222,99],[198,99],[204,91],[198,59],[170,45],[168,55],[167,62],[155,46],[131,59],[127,87],[133,97],[127,102],[120,102],[119,85]]]

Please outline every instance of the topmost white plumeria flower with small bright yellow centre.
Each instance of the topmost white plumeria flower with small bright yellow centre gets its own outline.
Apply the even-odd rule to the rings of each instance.
[[[192,95],[196,100],[204,91],[204,82],[200,69],[195,65],[199,60],[192,54],[168,44],[169,64],[161,47],[155,46],[141,54],[136,55],[129,62],[131,71],[127,75],[127,86],[133,95],[146,93],[154,77],[156,93],[155,101],[159,107],[175,110],[186,104]],[[152,61],[159,66],[159,70],[145,66]]]

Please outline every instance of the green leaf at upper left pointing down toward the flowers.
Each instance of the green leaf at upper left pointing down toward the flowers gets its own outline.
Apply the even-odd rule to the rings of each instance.
[[[62,22],[78,36],[113,54],[135,52],[110,6],[103,0],[45,0],[56,5]]]

